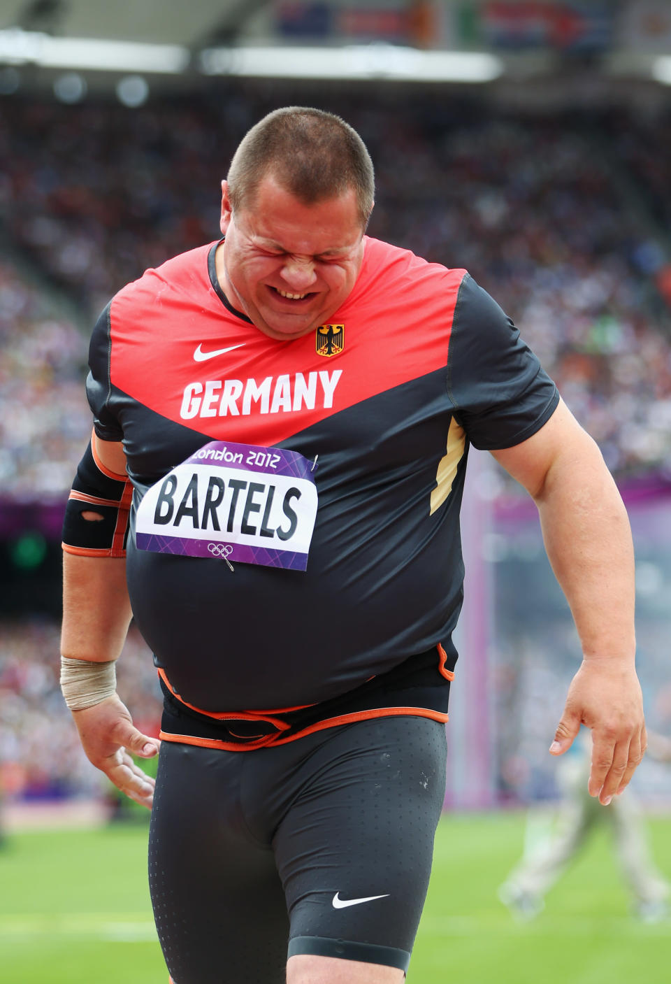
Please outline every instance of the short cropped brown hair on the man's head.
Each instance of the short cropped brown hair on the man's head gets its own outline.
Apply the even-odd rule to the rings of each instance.
[[[366,227],[375,197],[373,161],[358,133],[334,113],[285,106],[253,126],[228,169],[234,212],[249,205],[269,173],[305,205],[336,198],[352,188]]]

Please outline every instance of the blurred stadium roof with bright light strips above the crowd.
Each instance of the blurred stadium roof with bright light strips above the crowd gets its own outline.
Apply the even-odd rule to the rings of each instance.
[[[449,9],[452,2],[456,0],[443,0],[441,9]],[[343,18],[346,15],[349,22],[357,15],[385,14],[389,23],[390,18],[394,21],[395,11],[402,20],[416,8],[436,5],[388,0],[387,4],[369,2],[363,6],[366,10],[353,0],[322,4],[281,4],[274,0],[0,0],[0,75],[4,71],[0,92],[14,91],[22,67],[39,69],[22,78],[22,85],[29,86],[50,83],[55,73],[68,70],[88,72],[89,86],[106,87],[110,82],[116,84],[110,75],[118,80],[119,75],[129,73],[152,75],[152,87],[170,78],[179,86],[198,84],[204,75],[459,83],[486,83],[503,75],[509,83],[522,84],[557,72],[567,75],[562,71],[566,66],[561,51],[533,46],[512,50],[499,43],[501,38],[489,51],[487,44],[481,51],[422,50],[421,41],[414,46],[402,31],[397,37],[380,41],[374,36],[372,43],[370,37],[361,43],[351,43],[351,38],[347,43],[342,36],[338,41],[337,30],[320,22],[317,33],[322,40],[317,43],[321,46],[314,46],[308,29],[314,26],[311,12],[318,9],[323,15],[325,11],[332,15],[337,12]],[[548,9],[553,6],[562,5],[549,4]],[[487,5],[474,0],[472,9],[482,11]],[[299,20],[292,23],[294,16]],[[615,20],[608,20],[610,17],[601,18],[603,24],[594,18],[593,30],[587,18],[582,39],[595,42],[592,34],[597,28],[603,33],[604,25],[606,33],[614,30]],[[489,27],[493,30],[491,24]],[[489,40],[496,42],[495,35],[496,31]],[[435,36],[425,33],[424,40],[434,43]],[[574,60],[568,66],[570,73],[576,75],[577,69],[586,66],[592,75],[611,82],[655,79],[671,84],[669,57],[658,57],[658,52],[618,50],[618,38],[611,38],[609,33],[609,40],[606,34],[599,37],[603,46],[598,49],[599,57],[591,62],[576,61],[580,45],[571,51]],[[454,31],[447,31],[443,43],[459,47]],[[592,54],[595,50],[590,49]],[[3,70],[3,65],[9,70]]]

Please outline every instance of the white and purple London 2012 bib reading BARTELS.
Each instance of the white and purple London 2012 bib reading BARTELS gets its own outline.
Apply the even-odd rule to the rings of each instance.
[[[211,441],[147,491],[138,548],[305,571],[314,467],[295,451]]]

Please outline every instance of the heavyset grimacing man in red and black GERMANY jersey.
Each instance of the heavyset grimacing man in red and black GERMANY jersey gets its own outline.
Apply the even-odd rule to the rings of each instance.
[[[343,121],[276,110],[222,182],[224,238],[121,290],[91,340],[63,687],[91,762],[151,806],[129,752],[155,743],[114,692],[132,610],[165,695],[150,882],[174,984],[272,984],[287,953],[288,984],[403,978],[445,788],[468,443],[534,497],[579,628],[551,751],[592,728],[602,803],[641,760],[614,483],[465,271],[366,237],[373,192]]]

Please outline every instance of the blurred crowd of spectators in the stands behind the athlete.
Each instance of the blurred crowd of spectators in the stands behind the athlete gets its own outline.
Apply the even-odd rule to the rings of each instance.
[[[249,85],[136,110],[2,100],[2,497],[65,496],[91,427],[88,327],[125,282],[217,237],[218,183],[240,137],[274,106],[305,100]],[[407,89],[309,101],[371,150],[370,234],[468,269],[617,476],[671,475],[671,121],[627,109],[540,117]],[[0,627],[7,792],[98,781],[62,705],[57,647],[48,623]],[[120,689],[155,729],[151,657],[135,636],[127,650]]]

